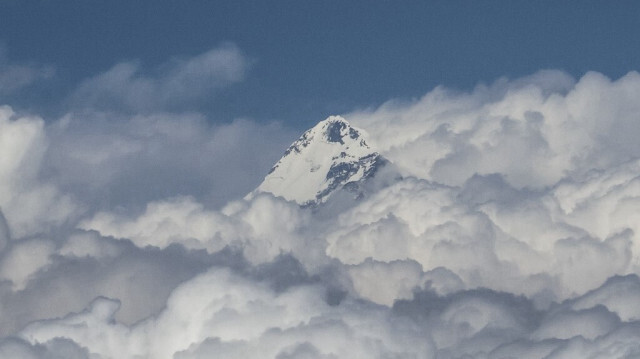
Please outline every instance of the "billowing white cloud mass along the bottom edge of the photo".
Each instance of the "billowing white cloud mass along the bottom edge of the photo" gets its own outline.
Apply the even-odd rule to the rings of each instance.
[[[598,352],[626,358],[640,335],[638,322],[621,321],[602,304],[538,311],[524,297],[481,290],[422,292],[392,309],[353,300],[331,306],[317,284],[276,293],[227,269],[186,282],[158,316],[137,324],[115,322],[118,307],[118,301],[99,298],[86,311],[33,323],[20,336],[36,345],[63,336],[104,358],[545,358]]]

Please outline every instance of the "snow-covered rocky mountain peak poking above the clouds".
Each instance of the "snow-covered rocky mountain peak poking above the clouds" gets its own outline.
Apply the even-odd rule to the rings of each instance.
[[[331,116],[306,131],[254,191],[269,192],[300,205],[325,202],[339,189],[356,189],[387,163],[363,134],[342,117]]]

